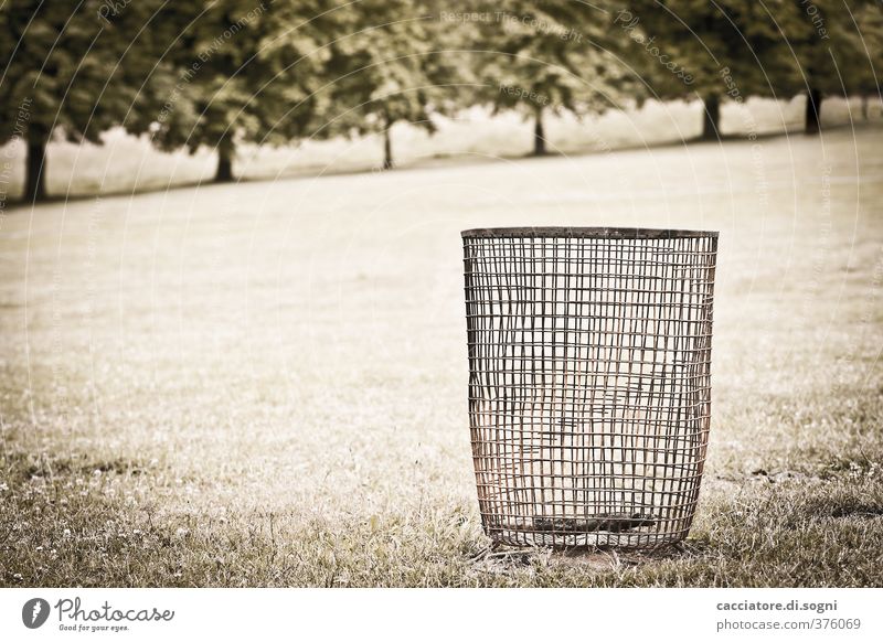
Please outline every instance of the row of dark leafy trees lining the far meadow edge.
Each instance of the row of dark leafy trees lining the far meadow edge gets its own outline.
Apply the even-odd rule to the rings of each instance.
[[[121,126],[158,148],[432,131],[474,105],[543,119],[648,99],[879,97],[883,10],[871,0],[18,0],[0,6],[0,143],[26,143],[25,197],[46,196],[53,136]],[[746,124],[748,131],[752,124]]]

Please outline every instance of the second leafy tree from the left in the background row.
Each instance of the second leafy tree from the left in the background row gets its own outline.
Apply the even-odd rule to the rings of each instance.
[[[284,143],[312,122],[322,40],[319,2],[243,7],[196,3],[170,63],[177,81],[159,90],[152,141],[161,149],[217,153],[216,182],[232,181],[240,142]]]

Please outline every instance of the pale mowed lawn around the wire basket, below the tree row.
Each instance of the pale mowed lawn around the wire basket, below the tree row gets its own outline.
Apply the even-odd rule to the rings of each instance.
[[[883,129],[0,220],[0,585],[883,586]],[[489,552],[459,231],[721,232],[685,546]]]

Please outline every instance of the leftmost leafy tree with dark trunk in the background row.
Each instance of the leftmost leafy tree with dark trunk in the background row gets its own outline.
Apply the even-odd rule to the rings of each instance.
[[[67,140],[100,143],[100,133],[140,109],[139,87],[152,68],[156,31],[141,30],[159,2],[110,6],[22,0],[0,6],[0,145],[26,140],[24,197],[46,199],[46,145],[56,131]],[[127,128],[139,133],[143,121]]]

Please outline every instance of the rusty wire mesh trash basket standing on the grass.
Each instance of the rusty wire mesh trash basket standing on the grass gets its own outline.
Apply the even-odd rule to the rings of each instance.
[[[716,232],[462,233],[469,424],[494,543],[657,547],[695,513]]]

